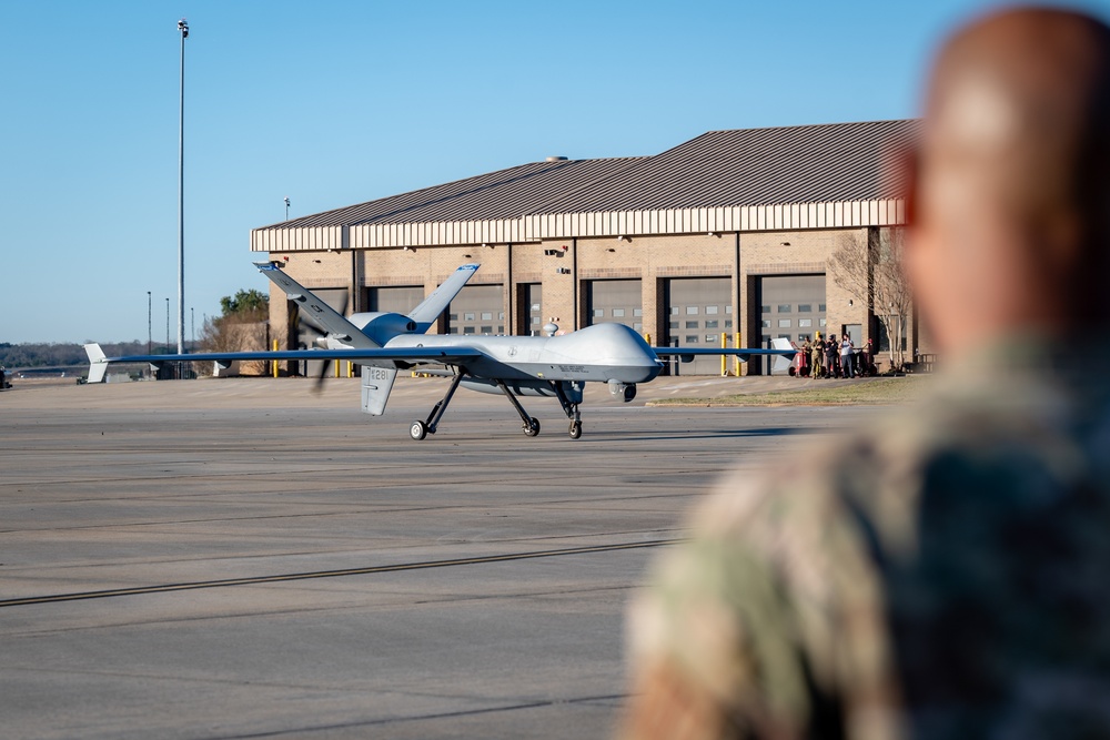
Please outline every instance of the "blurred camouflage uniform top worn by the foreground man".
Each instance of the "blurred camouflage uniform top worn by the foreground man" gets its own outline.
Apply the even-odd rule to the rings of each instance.
[[[1110,385],[1080,365],[1001,343],[725,480],[632,607],[626,733],[1110,737]]]

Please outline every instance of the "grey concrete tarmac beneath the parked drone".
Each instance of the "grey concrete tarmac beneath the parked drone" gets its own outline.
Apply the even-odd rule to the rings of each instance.
[[[624,606],[734,466],[881,409],[645,407],[801,381],[553,399],[400,378],[0,393],[0,727],[12,738],[605,737]],[[786,443],[786,444],[784,444]]]

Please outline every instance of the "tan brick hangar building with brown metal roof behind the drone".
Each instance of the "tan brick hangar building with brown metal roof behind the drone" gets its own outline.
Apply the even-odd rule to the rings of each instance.
[[[251,250],[347,313],[405,313],[458,265],[481,263],[441,333],[619,322],[653,344],[800,344],[818,331],[882,344],[869,302],[827,277],[826,261],[838,240],[887,239],[905,223],[884,164],[916,128],[710,131],[654,156],[552,156],[254,229]],[[295,304],[274,287],[271,297],[271,336],[311,345]],[[911,325],[908,346],[918,343]],[[682,372],[718,374],[720,362]]]

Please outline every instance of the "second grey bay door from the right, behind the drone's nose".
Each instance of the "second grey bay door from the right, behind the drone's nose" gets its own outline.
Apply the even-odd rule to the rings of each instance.
[[[664,283],[667,302],[665,344],[719,347],[722,333],[734,333],[733,281],[728,277],[672,277]],[[720,375],[720,357],[683,363],[683,375]]]

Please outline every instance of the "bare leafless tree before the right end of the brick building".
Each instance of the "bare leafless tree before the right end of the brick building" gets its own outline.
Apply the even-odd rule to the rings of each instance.
[[[834,282],[866,303],[887,332],[890,366],[906,364],[906,330],[912,306],[909,281],[902,271],[902,230],[870,229],[840,234],[828,259]]]

